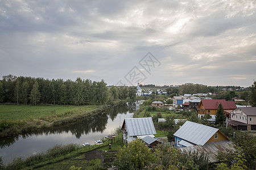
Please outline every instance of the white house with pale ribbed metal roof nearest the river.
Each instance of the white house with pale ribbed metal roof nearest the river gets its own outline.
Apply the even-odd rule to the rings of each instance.
[[[151,117],[143,118],[125,118],[121,128],[123,133],[123,143],[135,141],[138,138],[150,136],[155,138],[155,126]]]

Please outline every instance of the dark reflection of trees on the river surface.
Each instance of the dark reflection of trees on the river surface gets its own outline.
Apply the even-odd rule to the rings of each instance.
[[[135,108],[135,109],[134,109]],[[65,126],[61,126],[59,128],[51,128],[51,129],[43,129],[38,132],[26,133],[22,135],[16,135],[10,138],[0,138],[0,146],[1,148],[9,147],[15,143],[15,141],[19,140],[19,137],[23,139],[30,137],[31,135],[49,135],[49,134],[60,134],[60,133],[68,133],[71,131],[76,138],[80,138],[84,134],[88,134],[92,132],[103,132],[106,129],[106,125],[108,123],[108,116],[112,119],[112,121],[117,117],[117,114],[126,114],[127,112],[132,113],[136,110],[135,103],[124,103],[114,107],[108,107],[106,111],[98,113],[92,117],[84,118],[80,121],[77,121],[73,124],[68,124]]]

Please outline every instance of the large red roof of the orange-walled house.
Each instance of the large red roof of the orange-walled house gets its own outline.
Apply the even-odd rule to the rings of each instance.
[[[226,101],[225,99],[202,99],[201,102],[203,103],[205,109],[218,109],[218,105],[220,103],[224,110],[237,108],[234,101]]]

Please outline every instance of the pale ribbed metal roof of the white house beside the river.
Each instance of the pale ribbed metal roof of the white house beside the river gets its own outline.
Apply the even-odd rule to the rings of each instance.
[[[156,134],[152,117],[125,118],[125,124],[129,136]]]

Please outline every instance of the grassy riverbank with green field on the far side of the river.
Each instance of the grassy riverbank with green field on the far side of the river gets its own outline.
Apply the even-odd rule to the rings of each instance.
[[[112,106],[125,103],[117,100]],[[0,105],[0,138],[56,128],[104,112],[108,105]]]

